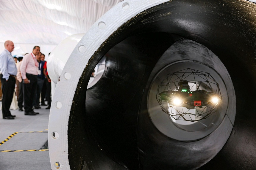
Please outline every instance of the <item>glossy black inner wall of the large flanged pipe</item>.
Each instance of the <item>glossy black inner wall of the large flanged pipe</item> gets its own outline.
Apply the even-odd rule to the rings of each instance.
[[[198,160],[188,166],[193,155],[184,157],[184,164],[170,160],[172,156],[161,157],[175,148],[173,140],[152,125],[145,105],[147,77],[158,58],[182,36],[205,45],[221,59],[236,93],[232,134],[199,169],[256,167],[255,18],[256,5],[249,1],[174,0],[121,26],[96,51],[80,78],[68,125],[71,169],[195,169],[204,164]],[[104,76],[86,91],[93,68],[105,54]],[[138,115],[142,117],[137,125]],[[162,142],[169,148],[161,148]],[[176,147],[176,152],[186,151]]]

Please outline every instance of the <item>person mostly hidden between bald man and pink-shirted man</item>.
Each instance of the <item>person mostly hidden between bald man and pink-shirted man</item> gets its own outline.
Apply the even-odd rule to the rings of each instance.
[[[21,61],[22,61],[23,57],[19,57],[18,58],[18,64],[16,65],[17,66],[17,75],[16,75],[16,79],[18,82],[16,82],[16,85],[18,88],[19,87],[19,93],[17,92],[18,89],[16,89],[16,95],[17,95],[17,99],[18,99],[18,107],[19,107],[19,111],[24,111],[23,110],[23,91],[22,91],[22,88],[23,88],[23,82],[22,82],[22,77],[21,77]],[[19,85],[18,85],[19,84]]]

